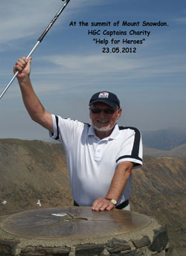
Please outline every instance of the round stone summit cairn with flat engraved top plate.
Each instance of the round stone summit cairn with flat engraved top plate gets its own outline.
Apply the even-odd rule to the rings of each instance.
[[[0,256],[163,256],[167,229],[134,211],[47,208],[0,218]]]

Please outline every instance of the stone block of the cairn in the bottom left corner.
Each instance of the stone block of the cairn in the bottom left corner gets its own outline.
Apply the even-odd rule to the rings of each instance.
[[[15,249],[19,242],[16,240],[0,240],[0,255],[12,256],[15,255]]]

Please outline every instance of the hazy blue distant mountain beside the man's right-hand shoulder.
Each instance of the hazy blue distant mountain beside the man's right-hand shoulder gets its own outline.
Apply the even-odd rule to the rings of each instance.
[[[186,129],[161,129],[141,133],[144,146],[158,150],[172,150],[186,144]]]

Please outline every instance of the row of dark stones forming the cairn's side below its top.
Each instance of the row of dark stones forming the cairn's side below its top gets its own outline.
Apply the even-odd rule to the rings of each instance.
[[[128,237],[129,238],[129,237]],[[17,240],[0,240],[0,256],[164,256],[168,250],[167,229],[153,231],[153,239],[144,235],[135,240],[113,237],[107,243],[81,243],[65,246],[25,246],[18,254]]]

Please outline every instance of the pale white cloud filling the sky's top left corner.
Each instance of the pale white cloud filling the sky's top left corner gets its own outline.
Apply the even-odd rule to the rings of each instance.
[[[40,28],[51,22],[50,19],[53,19],[53,15],[57,13],[57,7],[59,7],[57,0],[9,0],[1,2],[0,43],[7,43],[14,39],[27,38],[36,34]]]

